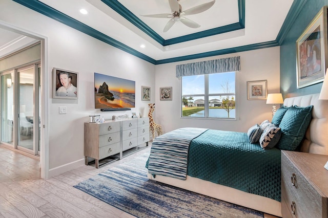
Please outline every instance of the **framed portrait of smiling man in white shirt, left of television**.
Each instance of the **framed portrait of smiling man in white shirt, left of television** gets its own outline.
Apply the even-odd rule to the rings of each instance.
[[[77,99],[78,98],[78,73],[54,68],[53,75],[53,98]]]

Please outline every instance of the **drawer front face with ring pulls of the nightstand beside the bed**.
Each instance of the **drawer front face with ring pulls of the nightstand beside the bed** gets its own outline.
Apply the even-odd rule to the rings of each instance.
[[[281,166],[281,200],[291,213],[294,204],[295,215],[292,217],[326,217],[326,201],[313,184],[284,155],[281,156]]]

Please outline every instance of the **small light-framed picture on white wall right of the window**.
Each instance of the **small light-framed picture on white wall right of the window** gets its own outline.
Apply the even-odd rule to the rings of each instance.
[[[267,80],[247,82],[247,99],[267,99]]]

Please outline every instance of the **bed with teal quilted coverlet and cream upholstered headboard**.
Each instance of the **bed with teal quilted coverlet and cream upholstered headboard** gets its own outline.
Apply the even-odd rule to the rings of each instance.
[[[284,112],[280,119],[281,123],[279,122],[281,138],[279,137],[279,141],[274,147],[269,146],[270,149],[267,149],[269,147],[265,148],[263,140],[260,140],[262,144],[250,143],[248,133],[214,129],[181,128],[159,136],[153,141],[151,156],[147,164],[148,178],[281,216],[280,150],[296,149],[301,152],[328,155],[328,113],[326,109],[328,101],[318,100],[318,97],[319,94],[312,94],[284,100],[283,108],[287,108],[285,111],[288,113]],[[305,124],[306,127],[303,127],[304,133],[298,138],[293,136],[291,142],[288,140],[289,132],[286,132],[286,127],[283,126],[286,123],[292,125],[292,128],[298,126],[293,122],[286,122],[286,119],[298,120],[298,117],[295,116],[300,113],[293,113],[290,108],[303,110],[303,108],[310,107],[311,110],[308,111],[310,119],[309,123]],[[279,112],[277,111],[278,114],[283,111],[283,108]],[[290,117],[291,113],[292,117]],[[275,121],[278,114],[275,115]],[[309,116],[306,117],[306,119],[309,118]],[[300,118],[300,122],[304,123],[306,119]],[[176,138],[176,136],[178,137]],[[183,140],[180,140],[181,138]],[[214,147],[218,147],[216,145],[218,141],[223,141],[220,145],[223,147],[220,149],[223,150],[217,151],[216,148],[209,148],[213,144]],[[295,144],[294,142],[299,146],[286,147]],[[201,149],[202,146],[207,148]],[[166,166],[156,165],[157,159],[154,154],[160,156],[166,162]],[[180,155],[177,155],[178,158],[176,158],[174,154]],[[171,160],[172,157],[174,160]],[[187,159],[188,163],[186,163]],[[221,161],[220,164],[216,163],[218,160]],[[173,162],[175,164],[172,164]],[[211,166],[204,168],[206,164]],[[171,167],[171,165],[174,166]]]

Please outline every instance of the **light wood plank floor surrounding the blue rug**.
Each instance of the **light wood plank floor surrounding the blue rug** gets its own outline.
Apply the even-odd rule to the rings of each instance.
[[[134,217],[73,185],[97,175],[122,160],[96,169],[80,166],[47,180],[40,179],[39,161],[0,146],[0,218],[3,217]],[[265,218],[275,218],[264,214]]]

